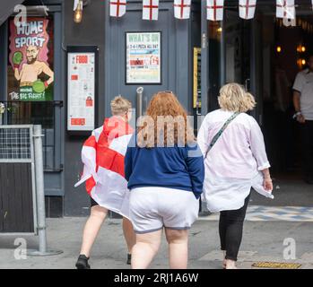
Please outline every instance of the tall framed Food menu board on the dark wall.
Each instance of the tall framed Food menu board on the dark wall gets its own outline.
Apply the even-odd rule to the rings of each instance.
[[[67,130],[92,131],[95,128],[96,47],[67,48]]]

